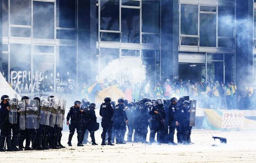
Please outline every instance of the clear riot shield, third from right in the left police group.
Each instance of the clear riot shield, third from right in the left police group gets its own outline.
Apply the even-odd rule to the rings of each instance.
[[[41,98],[39,110],[39,123],[41,125],[49,126],[51,112],[50,103],[47,99]]]

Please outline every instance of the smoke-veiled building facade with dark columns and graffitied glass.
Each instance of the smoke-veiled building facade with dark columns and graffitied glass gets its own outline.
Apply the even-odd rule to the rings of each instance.
[[[256,81],[253,0],[0,1],[0,69],[21,94],[105,78]]]

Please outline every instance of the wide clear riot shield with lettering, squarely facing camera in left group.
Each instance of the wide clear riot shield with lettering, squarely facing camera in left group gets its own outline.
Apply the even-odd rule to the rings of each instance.
[[[39,106],[37,99],[26,100],[26,129],[39,128]]]

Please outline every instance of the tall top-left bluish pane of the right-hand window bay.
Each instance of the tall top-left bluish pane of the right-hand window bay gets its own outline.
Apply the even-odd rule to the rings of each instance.
[[[198,5],[181,4],[181,34],[198,35]]]

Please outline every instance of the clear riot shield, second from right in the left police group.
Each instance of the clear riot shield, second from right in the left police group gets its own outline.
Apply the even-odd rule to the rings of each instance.
[[[49,126],[54,127],[55,125],[55,121],[56,121],[56,116],[58,113],[58,103],[59,103],[59,99],[58,98],[50,98],[50,109],[48,111],[50,111],[50,119],[49,119]]]

